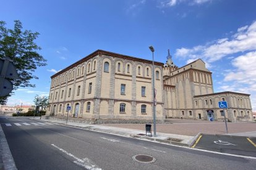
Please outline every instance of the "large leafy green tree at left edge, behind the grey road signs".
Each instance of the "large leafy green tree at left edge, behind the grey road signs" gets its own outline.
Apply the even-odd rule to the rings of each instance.
[[[35,87],[30,80],[35,78],[33,75],[37,67],[45,66],[46,59],[38,51],[41,47],[36,45],[35,39],[39,33],[30,30],[22,31],[22,23],[14,21],[14,28],[6,28],[6,22],[0,21],[0,58],[10,57],[13,60],[19,79],[12,80],[14,89],[18,87]],[[0,102],[6,101],[8,95],[0,98]]]

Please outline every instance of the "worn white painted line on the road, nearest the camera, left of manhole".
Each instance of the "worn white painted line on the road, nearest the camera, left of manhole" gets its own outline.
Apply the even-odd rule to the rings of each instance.
[[[66,150],[64,150],[62,148],[59,148],[54,144],[51,144],[51,145],[55,148],[58,148],[58,150],[60,150],[61,152],[64,152],[67,155],[69,155],[70,157],[74,158],[75,159],[75,161],[74,161],[75,164],[78,164],[78,165],[80,165],[80,166],[82,166],[86,169],[101,170],[101,168],[99,168],[96,164],[93,163],[93,161],[89,160],[88,158],[83,158],[83,159],[77,158],[75,155],[72,155],[71,153],[68,153]]]

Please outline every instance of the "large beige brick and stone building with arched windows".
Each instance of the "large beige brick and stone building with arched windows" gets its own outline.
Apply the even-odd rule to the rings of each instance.
[[[156,119],[252,120],[249,94],[213,93],[211,72],[198,59],[184,67],[155,62]],[[152,62],[98,50],[51,76],[47,114],[94,119],[152,119]]]

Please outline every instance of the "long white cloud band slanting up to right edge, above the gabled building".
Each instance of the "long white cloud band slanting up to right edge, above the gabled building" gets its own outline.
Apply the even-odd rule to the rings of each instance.
[[[249,26],[238,28],[237,33],[233,34],[230,39],[216,39],[215,41],[207,42],[204,46],[176,49],[176,56],[188,60],[200,58],[212,63],[227,55],[254,50],[256,50],[256,22]]]

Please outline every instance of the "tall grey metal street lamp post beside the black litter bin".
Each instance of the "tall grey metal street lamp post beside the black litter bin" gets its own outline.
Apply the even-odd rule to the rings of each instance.
[[[154,65],[154,47],[150,46],[150,51],[152,52],[152,65],[153,65],[153,75],[152,75],[152,98],[153,98],[153,126],[154,126],[154,136],[156,136],[156,96],[155,96],[155,65]]]

